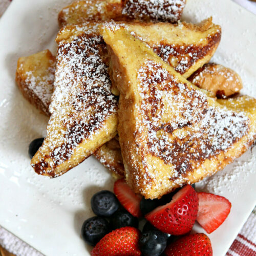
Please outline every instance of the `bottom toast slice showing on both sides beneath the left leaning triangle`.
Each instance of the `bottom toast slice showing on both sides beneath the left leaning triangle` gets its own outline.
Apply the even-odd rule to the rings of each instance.
[[[53,92],[55,65],[56,58],[49,50],[19,58],[17,64],[16,80],[24,97],[47,116],[50,116],[49,105]],[[118,139],[113,138],[103,144],[94,156],[115,178],[123,177],[124,167]]]

